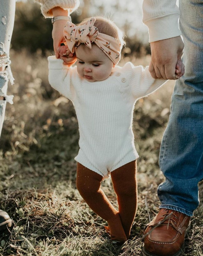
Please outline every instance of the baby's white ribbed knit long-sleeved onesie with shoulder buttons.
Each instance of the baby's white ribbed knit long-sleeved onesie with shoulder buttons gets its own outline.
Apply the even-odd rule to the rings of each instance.
[[[148,67],[128,62],[116,66],[103,81],[88,82],[67,68],[63,61],[49,56],[49,83],[70,99],[75,107],[80,150],[75,160],[102,175],[138,158],[132,131],[135,101],[166,82],[151,77]]]

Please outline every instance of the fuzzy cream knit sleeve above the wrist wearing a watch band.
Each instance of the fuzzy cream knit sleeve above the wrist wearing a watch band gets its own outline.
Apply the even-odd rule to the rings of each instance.
[[[60,7],[64,10],[70,10],[70,13],[74,12],[79,4],[79,0],[35,0],[35,2],[41,5],[41,11],[45,18],[52,18],[53,13],[51,11],[54,7]]]

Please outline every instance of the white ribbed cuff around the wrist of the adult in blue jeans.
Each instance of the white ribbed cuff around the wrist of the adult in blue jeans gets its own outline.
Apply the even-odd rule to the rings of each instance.
[[[145,22],[148,26],[149,42],[151,43],[181,35],[178,18],[179,14],[171,14]]]

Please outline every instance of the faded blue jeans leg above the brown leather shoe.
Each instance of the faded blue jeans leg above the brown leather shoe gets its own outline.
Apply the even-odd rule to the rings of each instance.
[[[203,1],[180,0],[185,75],[175,85],[159,166],[166,178],[158,187],[160,208],[188,216],[199,205],[203,179]]]

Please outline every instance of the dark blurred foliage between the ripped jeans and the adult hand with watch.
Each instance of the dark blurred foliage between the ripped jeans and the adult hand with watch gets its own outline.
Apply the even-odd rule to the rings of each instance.
[[[44,19],[39,4],[30,2],[16,3],[15,23],[12,35],[12,48],[26,48],[30,52],[41,49],[53,49],[51,37],[52,24],[50,19]]]

